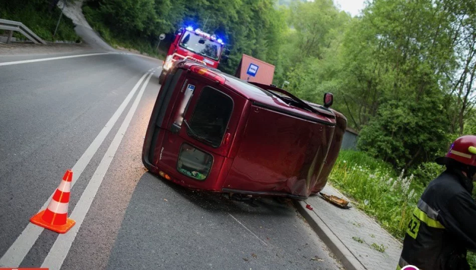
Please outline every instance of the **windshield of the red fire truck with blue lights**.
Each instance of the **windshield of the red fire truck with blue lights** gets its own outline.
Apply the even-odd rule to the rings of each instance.
[[[179,45],[213,60],[218,60],[221,53],[221,45],[218,42],[188,30],[183,33]]]

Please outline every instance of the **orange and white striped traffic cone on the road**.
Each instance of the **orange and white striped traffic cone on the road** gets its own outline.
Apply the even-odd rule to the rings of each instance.
[[[33,224],[37,224],[59,233],[65,233],[74,226],[76,221],[68,218],[68,204],[70,202],[72,179],[73,171],[69,169],[63,176],[63,180],[56,189],[46,210],[43,210],[30,218],[30,221]]]

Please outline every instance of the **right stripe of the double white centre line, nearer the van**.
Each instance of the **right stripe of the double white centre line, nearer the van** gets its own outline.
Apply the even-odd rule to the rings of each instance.
[[[142,88],[137,94],[134,103],[132,103],[129,112],[127,113],[126,117],[124,118],[124,121],[119,127],[119,130],[114,136],[111,145],[109,145],[109,148],[107,149],[106,153],[104,154],[104,157],[102,158],[96,171],[94,172],[93,177],[91,177],[91,180],[89,180],[86,189],[84,190],[83,194],[81,195],[81,198],[76,204],[76,207],[71,213],[71,218],[76,221],[76,224],[70,229],[70,231],[68,231],[68,233],[60,234],[58,236],[55,243],[53,244],[53,247],[50,249],[50,252],[46,256],[45,261],[43,261],[41,267],[48,267],[50,268],[50,270],[59,270],[61,268],[61,265],[63,264],[63,261],[65,260],[66,256],[68,255],[71,245],[73,244],[73,241],[76,238],[79,228],[81,227],[81,224],[83,223],[83,220],[89,211],[89,207],[91,207],[91,203],[93,202],[93,199],[96,196],[96,193],[98,192],[99,186],[101,185],[104,179],[104,175],[106,175],[109,165],[111,164],[112,159],[114,158],[114,155],[116,154],[116,151],[119,148],[119,144],[121,143],[121,140],[124,137],[124,134],[126,133],[127,127],[129,126],[132,116],[134,115],[137,106],[139,105],[140,98],[142,97],[142,94],[144,93],[145,87],[147,87],[147,83],[149,82],[151,76],[152,73],[149,74],[144,84],[142,85]]]

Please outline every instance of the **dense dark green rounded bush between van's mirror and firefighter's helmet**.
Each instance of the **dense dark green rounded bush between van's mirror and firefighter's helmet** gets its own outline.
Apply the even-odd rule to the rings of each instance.
[[[448,123],[442,114],[438,103],[430,98],[417,103],[388,101],[362,128],[358,147],[395,168],[416,168],[449,144],[443,128]]]

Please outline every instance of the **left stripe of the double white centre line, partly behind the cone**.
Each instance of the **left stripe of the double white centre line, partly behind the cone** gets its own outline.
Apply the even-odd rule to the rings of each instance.
[[[84,168],[89,164],[89,161],[91,160],[93,155],[96,153],[99,146],[106,138],[107,134],[109,134],[109,131],[111,131],[111,128],[114,126],[119,116],[121,116],[127,104],[129,104],[129,101],[132,99],[132,96],[135,94],[135,92],[139,88],[140,83],[144,80],[146,75],[147,73],[142,75],[139,81],[135,84],[134,88],[132,88],[132,90],[126,96],[122,104],[117,108],[116,112],[114,112],[112,117],[103,127],[101,132],[99,132],[99,134],[96,136],[93,142],[91,142],[91,145],[89,145],[89,147],[86,149],[83,155],[78,159],[76,164],[73,166],[72,168],[73,180],[71,182],[71,187],[73,187],[74,183],[79,178]],[[53,194],[54,192],[51,194],[48,200],[43,204],[40,210],[45,209],[48,206],[51,198],[53,197]],[[25,227],[25,229],[17,237],[17,239],[10,246],[7,252],[5,252],[5,254],[0,258],[0,266],[18,267],[20,263],[22,263],[23,259],[27,255],[28,251],[30,251],[30,249],[32,248],[33,244],[38,239],[42,231],[43,231],[43,227],[37,226],[33,223],[28,223],[27,227]]]

